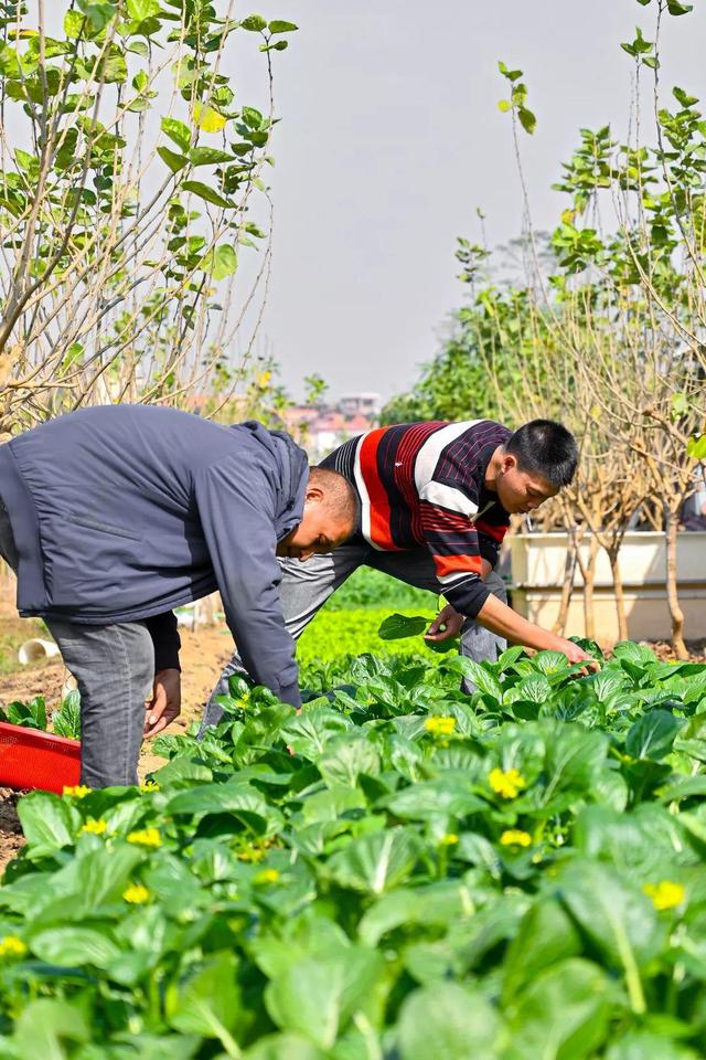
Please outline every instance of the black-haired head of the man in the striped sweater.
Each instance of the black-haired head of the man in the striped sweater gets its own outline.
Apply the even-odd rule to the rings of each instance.
[[[534,511],[574,478],[576,438],[554,420],[533,420],[493,454],[489,483],[505,511]],[[491,468],[489,467],[489,471]]]

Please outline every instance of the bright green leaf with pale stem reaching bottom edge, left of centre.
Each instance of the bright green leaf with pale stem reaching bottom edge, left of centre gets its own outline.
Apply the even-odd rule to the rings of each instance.
[[[216,953],[184,984],[167,992],[167,1021],[183,1034],[217,1038],[228,1057],[242,1057],[232,1031],[242,1011],[233,953]]]

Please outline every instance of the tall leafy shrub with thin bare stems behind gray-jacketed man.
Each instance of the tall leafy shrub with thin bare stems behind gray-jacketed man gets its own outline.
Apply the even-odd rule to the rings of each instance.
[[[271,54],[297,29],[225,0],[66,0],[62,33],[44,10],[0,3],[0,435],[84,402],[179,401],[232,361],[269,267]],[[259,106],[227,73],[253,38]]]

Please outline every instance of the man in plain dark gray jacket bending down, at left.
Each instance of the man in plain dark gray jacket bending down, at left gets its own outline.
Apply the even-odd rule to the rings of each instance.
[[[78,682],[82,783],[136,783],[143,733],[180,709],[173,608],[216,589],[249,677],[299,706],[276,556],[336,548],[355,505],[255,422],[111,405],[0,446],[0,554],[20,614],[46,622]]]

